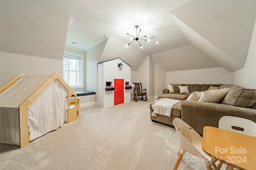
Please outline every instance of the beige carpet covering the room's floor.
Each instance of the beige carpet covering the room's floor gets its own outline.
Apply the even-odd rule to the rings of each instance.
[[[85,107],[78,119],[19,149],[1,144],[1,170],[167,170],[179,150],[174,127],[154,123],[149,104]],[[179,170],[206,169],[185,153]]]

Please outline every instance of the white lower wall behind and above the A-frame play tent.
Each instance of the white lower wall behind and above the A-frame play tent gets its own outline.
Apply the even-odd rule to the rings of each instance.
[[[62,60],[1,52],[0,61],[1,86],[22,72],[26,75],[63,74]]]

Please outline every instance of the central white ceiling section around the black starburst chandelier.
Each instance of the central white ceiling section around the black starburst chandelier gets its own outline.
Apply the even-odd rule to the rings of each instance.
[[[135,25],[142,27],[141,37],[154,36],[152,41],[140,41],[142,50],[154,54],[188,45],[188,41],[172,19],[170,11],[188,1],[42,1],[68,14],[73,21],[68,27],[66,46],[88,51],[104,35],[112,35],[127,44],[136,35]],[[159,41],[160,44],[155,44]],[[79,43],[74,45],[72,42]],[[124,45],[126,45],[126,43]],[[139,47],[134,41],[131,45]]]

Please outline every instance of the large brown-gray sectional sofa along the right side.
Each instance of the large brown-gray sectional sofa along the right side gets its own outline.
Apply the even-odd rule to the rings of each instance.
[[[180,93],[179,86],[188,86],[189,92]],[[210,87],[218,88],[218,91],[228,89],[228,92],[218,102],[205,102],[203,99],[201,99],[201,102],[198,102],[198,98],[196,98],[196,101],[191,100],[191,96],[198,94],[198,92],[204,92],[205,96],[209,92],[211,93],[212,91],[208,90]],[[168,88],[164,88],[162,90],[163,95],[159,96],[158,99],[173,98],[181,100],[181,102],[178,102],[172,107],[170,117],[159,114],[156,117],[152,116],[151,113],[154,111],[152,104],[155,102],[150,104],[150,118],[152,121],[173,126],[173,119],[178,117],[188,123],[200,135],[203,134],[204,126],[218,127],[218,122],[224,115],[242,117],[256,122],[255,89],[243,88],[232,84],[173,84],[173,89],[174,92],[169,92]],[[189,96],[191,98],[190,100],[188,100]],[[211,97],[210,100],[212,98],[214,97]]]

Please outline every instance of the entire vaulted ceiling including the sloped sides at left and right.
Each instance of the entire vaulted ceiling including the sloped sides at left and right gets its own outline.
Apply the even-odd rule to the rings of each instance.
[[[239,70],[256,18],[255,0],[0,3],[1,51],[61,59],[64,46],[88,51],[106,41],[99,62],[119,57],[134,71],[148,55],[165,71]],[[140,41],[143,49],[136,41],[125,47],[131,41],[124,31],[135,36],[135,25],[143,26],[141,36],[153,36],[150,42]]]

